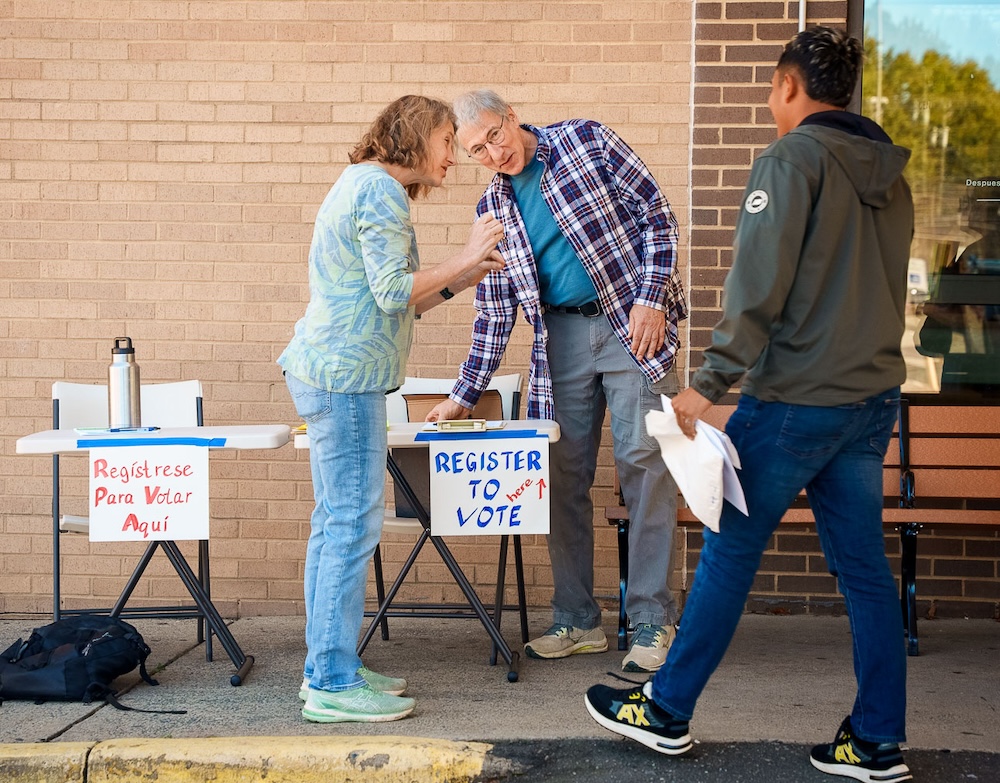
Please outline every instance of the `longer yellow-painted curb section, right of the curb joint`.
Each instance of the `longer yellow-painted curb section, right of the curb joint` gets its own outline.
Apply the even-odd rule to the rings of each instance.
[[[97,744],[87,783],[471,783],[492,745],[420,737],[216,737]]]

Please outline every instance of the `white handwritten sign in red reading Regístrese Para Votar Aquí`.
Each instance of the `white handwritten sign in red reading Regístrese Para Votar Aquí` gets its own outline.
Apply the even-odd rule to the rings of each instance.
[[[91,541],[208,538],[208,449],[90,450]]]

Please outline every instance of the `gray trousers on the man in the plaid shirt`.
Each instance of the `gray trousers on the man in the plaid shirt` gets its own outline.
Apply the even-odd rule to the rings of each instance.
[[[601,624],[594,600],[594,505],[605,410],[611,412],[615,465],[629,511],[629,576],[625,610],[633,624],[670,625],[677,601],[667,586],[677,524],[677,486],[646,434],[645,415],[662,410],[660,394],[677,394],[674,371],[656,384],[640,372],[605,316],[548,312],[548,359],[559,440],[550,452],[549,558],[555,585],[553,622]]]

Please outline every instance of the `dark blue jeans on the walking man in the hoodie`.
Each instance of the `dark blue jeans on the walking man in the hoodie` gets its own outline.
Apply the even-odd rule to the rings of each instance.
[[[882,462],[898,407],[898,389],[834,408],[740,398],[726,433],[743,463],[750,516],[726,503],[719,533],[704,531],[680,632],[653,679],[657,704],[690,719],[736,630],[768,539],[805,488],[850,619],[854,731],[872,742],[904,741],[903,620],[882,532]]]

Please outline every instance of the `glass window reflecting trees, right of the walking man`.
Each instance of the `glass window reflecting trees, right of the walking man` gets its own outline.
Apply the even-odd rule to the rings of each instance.
[[[997,41],[1000,0],[865,0],[862,112],[912,151],[909,393],[1000,403]]]

